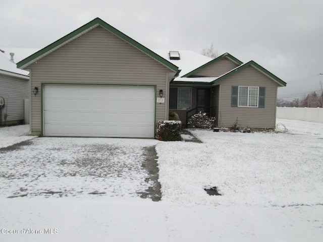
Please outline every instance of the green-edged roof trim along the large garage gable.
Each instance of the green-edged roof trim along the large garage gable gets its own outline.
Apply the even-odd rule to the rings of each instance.
[[[59,40],[47,45],[46,47],[42,48],[41,50],[39,50],[39,51],[35,52],[34,54],[28,56],[27,58],[23,59],[22,61],[17,63],[17,68],[20,68],[20,69],[26,68],[30,64],[36,62],[42,56],[46,55],[47,52],[49,52],[49,51],[51,52],[55,49],[58,49],[59,47],[64,45],[66,42],[72,41],[73,39],[77,38],[78,36],[82,35],[83,33],[87,32],[99,25],[101,27],[105,28],[106,30],[112,32],[113,34],[117,35],[121,39],[125,40],[129,44],[133,45],[134,47],[138,48],[139,50],[143,51],[144,53],[146,53],[150,57],[154,58],[159,63],[165,65],[166,67],[168,67],[172,71],[174,71],[176,73],[178,72],[178,67],[175,66],[174,64],[172,64],[171,62],[167,61],[167,59],[159,56],[158,54],[156,54],[152,50],[148,49],[147,47],[143,46],[139,42],[130,38],[128,35],[122,33],[118,29],[112,27],[110,24],[107,24],[106,22],[104,22],[100,18],[93,19],[92,21],[88,22],[87,24],[81,26],[80,28],[65,35],[64,37],[60,38]]]

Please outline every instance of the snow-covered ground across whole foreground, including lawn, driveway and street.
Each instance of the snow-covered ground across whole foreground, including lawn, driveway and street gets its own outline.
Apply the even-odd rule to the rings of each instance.
[[[0,150],[0,172],[8,176],[0,185],[0,241],[321,241],[323,124],[286,119],[277,123],[287,133],[192,131],[202,144],[37,138],[18,150]],[[121,153],[128,147],[124,155],[110,155],[116,157],[115,166],[129,162],[136,174],[98,179],[76,169],[73,157],[95,154],[84,149],[86,144],[114,146]],[[140,162],[144,147],[153,145],[163,193],[160,202],[133,192],[146,188],[141,183],[146,174],[134,162]],[[34,157],[38,158],[31,160]],[[73,182],[60,175],[68,173],[69,166],[62,169],[55,163],[59,159],[71,164],[71,172],[77,171]],[[41,169],[45,176],[35,184],[36,179],[30,179],[28,189],[55,184],[60,191],[69,188],[67,196],[7,198]],[[109,173],[104,166],[97,170]],[[123,185],[133,188],[116,189]],[[213,186],[222,196],[203,190]],[[85,193],[77,194],[81,187]],[[95,187],[105,194],[89,195]]]

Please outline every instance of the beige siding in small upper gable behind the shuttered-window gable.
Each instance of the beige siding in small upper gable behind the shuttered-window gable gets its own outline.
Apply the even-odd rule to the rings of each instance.
[[[221,76],[232,69],[238,67],[238,64],[230,61],[228,58],[223,58],[220,61],[213,63],[212,65],[204,68],[198,73],[195,73],[194,76],[203,76],[203,77],[218,77]]]

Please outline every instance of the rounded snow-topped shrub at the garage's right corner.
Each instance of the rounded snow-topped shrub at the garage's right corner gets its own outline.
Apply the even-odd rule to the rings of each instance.
[[[182,122],[165,120],[157,122],[156,139],[162,141],[180,141]]]

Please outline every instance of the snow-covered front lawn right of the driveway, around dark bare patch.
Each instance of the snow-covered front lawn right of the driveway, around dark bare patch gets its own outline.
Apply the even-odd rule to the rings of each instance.
[[[212,205],[323,204],[323,124],[278,123],[285,123],[288,133],[192,130],[202,144],[159,144],[163,200]],[[205,196],[203,188],[214,186],[223,196]]]

